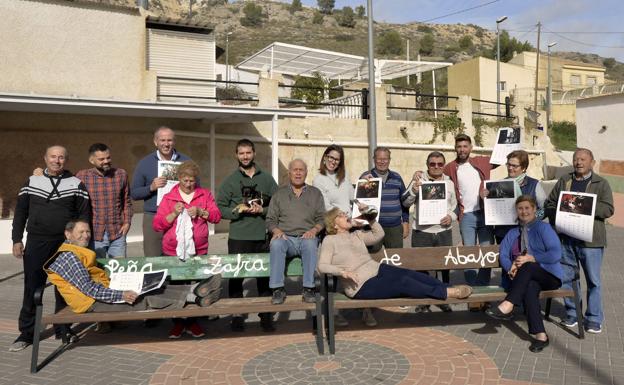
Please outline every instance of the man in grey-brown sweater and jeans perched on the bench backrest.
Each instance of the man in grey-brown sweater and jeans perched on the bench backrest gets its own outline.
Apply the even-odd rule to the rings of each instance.
[[[323,230],[325,201],[321,190],[306,184],[308,167],[301,159],[288,165],[288,184],[277,189],[266,217],[272,234],[269,287],[273,289],[271,303],[286,300],[284,270],[286,258],[301,256],[303,265],[303,300],[314,302],[314,270],[318,249],[318,233]]]

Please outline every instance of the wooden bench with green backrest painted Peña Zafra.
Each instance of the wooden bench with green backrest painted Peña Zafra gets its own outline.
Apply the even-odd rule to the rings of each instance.
[[[269,254],[224,254],[195,257],[183,262],[176,257],[147,257],[147,258],[119,258],[99,259],[110,275],[121,271],[153,271],[168,269],[171,281],[197,281],[212,274],[221,274],[223,278],[257,278],[269,276]],[[288,261],[286,275],[297,277],[303,275],[301,260],[293,258]],[[66,341],[57,348],[41,364],[39,360],[39,343],[41,330],[50,324],[95,323],[110,321],[136,321],[148,319],[205,317],[213,315],[249,314],[268,312],[290,312],[296,310],[315,311],[322,313],[320,297],[320,279],[316,277],[317,294],[315,303],[303,302],[301,296],[288,296],[281,305],[272,305],[271,297],[250,298],[222,298],[207,307],[187,305],[182,309],[159,309],[127,312],[97,312],[76,314],[69,307],[56,314],[43,314],[43,291],[40,288],[35,293],[36,324],[33,338],[33,350],[30,371],[36,373],[67,347]],[[316,326],[316,316],[313,317],[313,327]],[[320,318],[319,318],[320,321]],[[322,327],[315,327],[316,344],[319,354],[324,353]]]

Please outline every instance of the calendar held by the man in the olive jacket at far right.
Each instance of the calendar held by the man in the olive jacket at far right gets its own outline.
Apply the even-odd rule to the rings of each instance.
[[[596,215],[596,194],[562,191],[557,201],[555,228],[561,234],[591,242]]]

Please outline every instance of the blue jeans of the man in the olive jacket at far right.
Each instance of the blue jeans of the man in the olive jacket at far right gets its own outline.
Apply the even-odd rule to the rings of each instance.
[[[562,237],[561,267],[563,268],[563,285],[561,287],[564,289],[572,288],[572,279],[574,278],[573,266],[578,266],[580,263],[583,268],[583,273],[585,274],[585,282],[587,283],[585,322],[602,325],[604,314],[602,312],[600,268],[602,266],[604,248],[581,247],[580,244],[581,243],[576,239]],[[580,282],[576,284],[580,293]],[[566,307],[567,319],[576,320],[576,306],[574,306],[574,301],[566,297],[563,302]]]

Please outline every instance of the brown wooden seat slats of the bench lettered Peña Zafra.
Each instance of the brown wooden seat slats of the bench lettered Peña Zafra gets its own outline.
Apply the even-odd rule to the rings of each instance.
[[[272,305],[271,297],[224,298],[208,307],[187,305],[183,309],[160,309],[142,311],[102,312],[76,314],[65,308],[56,314],[43,316],[42,324],[52,323],[93,323],[110,321],[136,321],[144,319],[204,317],[209,315],[248,314],[314,310],[314,303],[306,303],[300,295],[286,298],[282,305]]]

